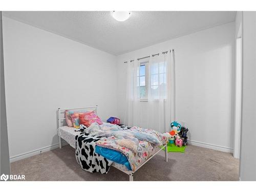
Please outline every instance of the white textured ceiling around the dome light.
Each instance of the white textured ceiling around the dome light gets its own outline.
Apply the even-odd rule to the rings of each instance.
[[[236,12],[134,11],[125,22],[109,11],[5,11],[4,16],[120,55],[233,22]]]

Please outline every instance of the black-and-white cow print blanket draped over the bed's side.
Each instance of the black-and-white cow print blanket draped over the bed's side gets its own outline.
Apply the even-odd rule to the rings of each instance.
[[[81,133],[76,136],[76,160],[87,172],[107,174],[113,161],[95,153],[95,142],[104,137]]]

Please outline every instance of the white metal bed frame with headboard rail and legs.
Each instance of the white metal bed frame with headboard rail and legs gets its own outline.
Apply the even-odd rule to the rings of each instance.
[[[95,106],[86,106],[86,107],[82,107],[82,108],[67,108],[67,109],[60,109],[60,108],[58,108],[58,110],[57,110],[57,112],[58,112],[58,113],[57,113],[57,119],[58,119],[58,127],[57,127],[57,129],[58,129],[59,127],[61,127],[61,121],[63,121],[64,119],[66,120],[65,114],[64,114],[64,118],[61,118],[61,117],[60,117],[61,111],[65,111],[65,110],[79,110],[79,109],[94,109],[93,111],[95,111],[95,112],[97,113],[97,107],[98,107],[98,105],[95,105]],[[61,137],[60,137],[60,136],[59,136],[59,148],[61,148]],[[135,173],[140,167],[142,167],[147,161],[151,160],[151,158],[153,158],[156,154],[158,154],[158,152],[160,152],[163,148],[165,148],[165,162],[168,162],[167,143],[166,143],[165,145],[163,145],[163,147],[159,148],[159,150],[158,150],[154,155],[152,155],[151,157],[149,157],[146,161],[144,161],[144,162],[143,162],[136,170],[134,170],[134,171],[133,171],[133,170],[122,170],[122,169],[120,169],[119,167],[116,167],[116,166],[114,166],[114,165],[112,165],[112,166],[114,166],[115,168],[121,170],[121,172],[123,172],[123,173],[129,175],[129,180],[130,180],[130,181],[133,181],[133,175],[134,175],[134,173]]]

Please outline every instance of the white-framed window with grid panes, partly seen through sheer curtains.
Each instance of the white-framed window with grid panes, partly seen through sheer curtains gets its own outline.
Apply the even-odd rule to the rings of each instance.
[[[151,77],[148,78],[148,75]],[[151,98],[159,99],[159,95],[166,98],[166,62],[153,62],[151,65],[149,61],[140,62],[137,69],[137,88],[137,96],[141,101],[147,100],[148,89]]]

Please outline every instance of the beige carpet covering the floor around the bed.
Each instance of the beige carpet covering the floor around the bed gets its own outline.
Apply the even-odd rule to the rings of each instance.
[[[229,153],[189,145],[185,153],[159,152],[134,174],[134,181],[237,181],[239,160]],[[11,163],[12,174],[30,181],[129,181],[129,176],[111,167],[108,174],[81,169],[75,150],[66,145]]]

